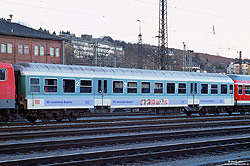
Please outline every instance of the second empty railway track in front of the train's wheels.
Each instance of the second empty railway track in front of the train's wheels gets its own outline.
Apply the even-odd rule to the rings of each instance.
[[[142,123],[142,124],[141,124]],[[36,139],[36,138],[48,138],[48,137],[65,137],[65,136],[83,136],[83,135],[97,135],[97,134],[114,134],[114,133],[126,133],[126,132],[147,132],[147,131],[161,131],[161,130],[177,130],[177,129],[190,129],[190,128],[208,128],[208,127],[223,127],[223,126],[243,126],[249,125],[250,120],[242,121],[216,121],[216,122],[192,122],[192,123],[178,123],[178,124],[156,124],[141,122],[139,126],[127,126],[117,127],[119,125],[112,124],[113,128],[88,128],[78,130],[52,130],[52,131],[38,131],[30,133],[5,133],[0,134],[1,141],[7,140],[21,140],[21,139]],[[138,122],[137,122],[138,125]],[[105,125],[104,125],[105,126]]]

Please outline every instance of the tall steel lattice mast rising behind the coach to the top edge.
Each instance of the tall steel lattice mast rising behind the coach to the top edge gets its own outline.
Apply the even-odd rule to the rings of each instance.
[[[167,25],[167,0],[159,1],[159,35],[158,50],[160,69],[166,70],[168,65],[168,25]]]

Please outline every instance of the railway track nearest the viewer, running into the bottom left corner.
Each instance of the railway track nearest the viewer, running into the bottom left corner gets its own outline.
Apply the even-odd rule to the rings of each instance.
[[[214,154],[225,151],[225,149],[246,150],[249,147],[250,137],[239,137],[0,161],[0,165],[110,165],[159,158],[204,155],[204,153]]]

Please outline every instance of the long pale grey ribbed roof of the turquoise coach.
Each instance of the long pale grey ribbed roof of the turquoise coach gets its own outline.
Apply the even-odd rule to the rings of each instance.
[[[14,68],[16,71],[20,71],[22,75],[233,82],[228,76],[218,73],[196,73],[43,63],[19,63],[15,64]]]

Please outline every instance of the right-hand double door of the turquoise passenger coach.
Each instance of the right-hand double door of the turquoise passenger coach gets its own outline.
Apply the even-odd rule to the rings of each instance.
[[[188,105],[190,106],[197,106],[199,105],[199,98],[198,98],[198,82],[191,82],[190,83],[190,95],[188,99]]]

